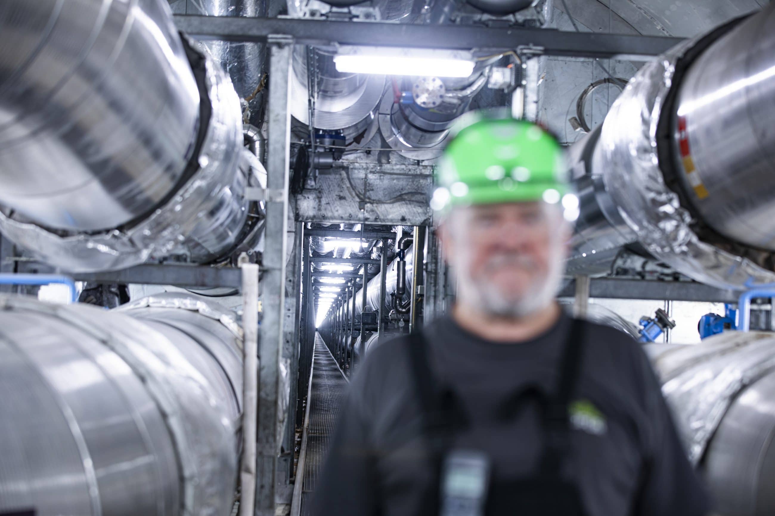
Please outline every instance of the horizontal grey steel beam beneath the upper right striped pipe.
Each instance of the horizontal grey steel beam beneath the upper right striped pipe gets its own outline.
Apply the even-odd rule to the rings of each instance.
[[[558,297],[573,298],[575,281],[571,280]],[[669,299],[670,301],[737,302],[740,292],[716,289],[695,282],[660,282],[646,279],[591,279],[591,298],[603,299]]]

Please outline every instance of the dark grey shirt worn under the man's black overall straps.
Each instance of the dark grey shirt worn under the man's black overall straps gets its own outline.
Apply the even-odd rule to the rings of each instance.
[[[584,356],[563,474],[589,516],[704,516],[708,498],[687,461],[660,385],[640,345],[608,326],[584,323]],[[497,409],[530,384],[556,384],[570,329],[563,315],[528,342],[492,343],[449,317],[424,331],[429,362],[473,422],[453,446],[490,456],[495,480],[536,470],[543,448],[538,407],[508,425]],[[374,348],[350,385],[313,499],[313,516],[419,516],[432,461],[404,338]],[[425,516],[425,515],[423,515]]]

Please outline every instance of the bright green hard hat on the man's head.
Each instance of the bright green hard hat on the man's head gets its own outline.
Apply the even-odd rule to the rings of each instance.
[[[486,118],[476,112],[467,116],[436,167],[434,210],[536,200],[559,203],[569,193],[563,148],[549,132],[516,118]]]

